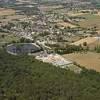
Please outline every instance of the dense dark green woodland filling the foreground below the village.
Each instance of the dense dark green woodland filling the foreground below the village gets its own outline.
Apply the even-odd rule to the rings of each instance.
[[[100,100],[100,74],[75,74],[0,50],[0,100]]]

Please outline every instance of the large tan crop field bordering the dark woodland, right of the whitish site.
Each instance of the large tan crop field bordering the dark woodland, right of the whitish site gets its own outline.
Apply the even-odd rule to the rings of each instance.
[[[100,54],[94,52],[72,53],[63,55],[64,58],[76,62],[87,69],[100,72]]]

